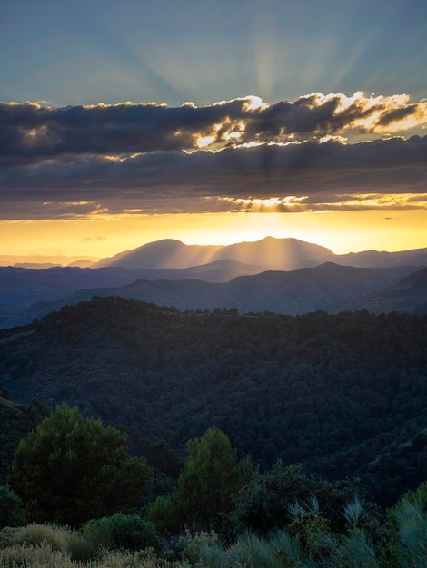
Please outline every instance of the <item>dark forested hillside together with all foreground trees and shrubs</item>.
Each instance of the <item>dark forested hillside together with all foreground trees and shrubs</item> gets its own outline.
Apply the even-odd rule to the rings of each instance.
[[[426,377],[399,313],[108,298],[4,330],[0,566],[427,565]]]

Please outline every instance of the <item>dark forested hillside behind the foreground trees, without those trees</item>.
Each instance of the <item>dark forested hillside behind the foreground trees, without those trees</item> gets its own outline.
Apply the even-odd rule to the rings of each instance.
[[[427,477],[427,317],[97,298],[19,331],[1,332],[0,387],[21,404],[76,404],[180,449],[217,426],[262,467],[357,475],[381,504]]]

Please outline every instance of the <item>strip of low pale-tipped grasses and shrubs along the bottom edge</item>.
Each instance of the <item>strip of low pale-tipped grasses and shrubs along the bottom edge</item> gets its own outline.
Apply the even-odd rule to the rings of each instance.
[[[186,530],[175,555],[160,548],[139,549],[140,544],[147,544],[138,544],[140,528],[144,524],[145,530],[147,525],[141,518],[137,521],[134,515],[94,520],[81,531],[46,524],[8,528],[0,533],[0,568],[415,568],[427,565],[427,517],[419,497],[405,495],[392,508],[394,528],[389,526],[390,539],[383,544],[375,544],[369,532],[350,524],[343,532],[333,530],[324,523],[321,504],[314,497],[294,505],[293,526],[289,530],[265,535],[245,531],[231,542],[214,531]],[[360,511],[359,505],[357,509]],[[98,547],[94,553],[91,542],[94,533],[109,534],[108,546],[112,547],[114,530],[117,531],[115,548]],[[89,545],[92,555],[84,557],[84,543]]]

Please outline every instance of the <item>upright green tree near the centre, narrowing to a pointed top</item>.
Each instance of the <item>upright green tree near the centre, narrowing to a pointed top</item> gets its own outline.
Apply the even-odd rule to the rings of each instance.
[[[252,474],[252,462],[238,460],[228,436],[215,427],[189,440],[187,450],[175,493],[158,497],[149,514],[172,531],[184,524],[218,528],[220,514],[233,508],[233,495]]]

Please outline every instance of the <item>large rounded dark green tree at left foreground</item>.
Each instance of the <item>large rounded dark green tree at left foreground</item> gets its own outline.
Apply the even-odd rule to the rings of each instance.
[[[30,521],[78,525],[134,512],[152,476],[144,457],[126,458],[122,432],[63,404],[21,440],[9,485]]]

